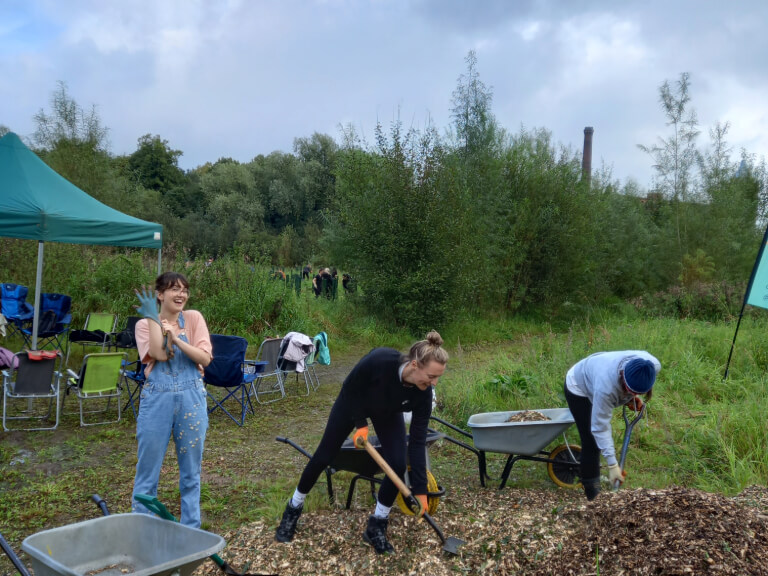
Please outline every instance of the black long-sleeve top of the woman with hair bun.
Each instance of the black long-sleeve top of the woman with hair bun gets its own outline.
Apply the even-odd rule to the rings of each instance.
[[[407,358],[392,348],[371,350],[346,377],[339,396],[350,407],[358,428],[366,426],[370,417],[413,412],[408,441],[411,486],[414,494],[426,494],[426,439],[432,390],[419,390],[400,381],[400,366],[405,362]]]

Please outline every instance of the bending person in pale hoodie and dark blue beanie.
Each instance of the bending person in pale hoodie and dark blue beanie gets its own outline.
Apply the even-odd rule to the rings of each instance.
[[[581,437],[580,477],[587,500],[600,493],[600,454],[613,485],[626,473],[616,459],[611,416],[627,405],[641,410],[651,397],[661,363],[642,350],[597,352],[574,364],[565,376],[565,399]]]

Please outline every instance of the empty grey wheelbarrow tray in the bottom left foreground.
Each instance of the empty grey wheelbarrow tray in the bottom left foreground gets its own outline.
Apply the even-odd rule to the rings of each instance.
[[[115,514],[33,534],[21,545],[35,576],[188,576],[221,536],[148,514]]]

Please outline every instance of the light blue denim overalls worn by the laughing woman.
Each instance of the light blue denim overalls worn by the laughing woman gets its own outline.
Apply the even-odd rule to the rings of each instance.
[[[179,339],[189,342],[184,333],[183,313],[179,314],[179,328]],[[197,365],[174,345],[173,357],[155,364],[141,393],[133,493],[157,495],[160,469],[173,435],[179,464],[181,523],[195,528],[200,527],[200,472],[207,430],[208,407],[202,377]],[[136,500],[133,510],[147,511]]]

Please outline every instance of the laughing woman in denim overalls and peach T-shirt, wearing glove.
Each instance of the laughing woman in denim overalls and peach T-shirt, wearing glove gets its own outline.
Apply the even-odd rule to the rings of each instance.
[[[179,464],[181,523],[200,527],[200,471],[208,430],[206,392],[200,373],[210,364],[211,341],[202,315],[183,312],[189,298],[187,279],[175,272],[155,282],[157,303],[151,292],[139,294],[136,343],[150,371],[141,392],[136,422],[138,462],[133,493],[157,495],[160,469],[173,435]],[[154,309],[153,309],[154,307]],[[133,500],[134,512],[148,512]]]

